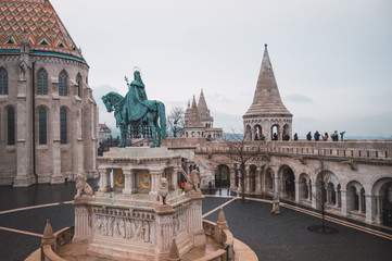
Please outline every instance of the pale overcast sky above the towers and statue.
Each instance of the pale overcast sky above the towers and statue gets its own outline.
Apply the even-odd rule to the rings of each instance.
[[[99,97],[127,91],[186,108],[203,88],[216,127],[242,129],[268,44],[293,133],[392,136],[390,0],[51,0]]]

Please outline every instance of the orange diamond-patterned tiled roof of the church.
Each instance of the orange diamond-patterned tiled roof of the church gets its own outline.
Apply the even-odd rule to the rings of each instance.
[[[48,0],[1,0],[0,53],[20,52],[24,30],[31,53],[55,53],[85,61]]]

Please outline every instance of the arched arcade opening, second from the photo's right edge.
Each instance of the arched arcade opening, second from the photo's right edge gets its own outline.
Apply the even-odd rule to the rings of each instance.
[[[366,212],[365,188],[357,181],[351,181],[346,185],[346,201],[349,211]]]

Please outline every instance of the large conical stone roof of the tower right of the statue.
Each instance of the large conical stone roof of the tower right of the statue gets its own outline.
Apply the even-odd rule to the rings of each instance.
[[[273,65],[269,60],[267,45],[264,45],[264,55],[260,70],[256,90],[252,105],[244,116],[248,115],[280,115],[292,116],[281,101],[278,85],[275,79]]]

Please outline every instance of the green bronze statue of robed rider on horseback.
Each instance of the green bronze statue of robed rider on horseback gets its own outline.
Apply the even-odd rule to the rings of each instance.
[[[114,91],[101,98],[108,112],[114,111],[114,117],[121,134],[118,148],[126,147],[128,125],[134,129],[134,134],[138,136],[142,134],[143,126],[149,125],[153,138],[151,148],[161,147],[162,139],[166,138],[165,104],[161,101],[147,99],[139,69],[134,70],[134,80],[130,84],[126,76],[125,80],[128,86],[128,94],[125,98]]]

